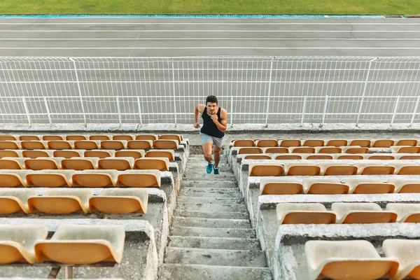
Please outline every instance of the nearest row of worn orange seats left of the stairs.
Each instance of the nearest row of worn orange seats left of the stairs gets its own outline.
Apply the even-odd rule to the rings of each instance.
[[[61,225],[51,239],[43,225],[2,225],[0,264],[58,262],[90,265],[120,262],[125,242],[119,225]]]

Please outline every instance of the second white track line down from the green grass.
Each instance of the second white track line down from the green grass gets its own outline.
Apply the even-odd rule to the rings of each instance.
[[[73,29],[73,30],[36,30],[36,29],[29,29],[29,30],[1,30],[1,32],[390,32],[390,33],[402,33],[402,32],[420,32],[419,30],[232,30],[232,29],[174,29],[174,30],[163,30],[163,29],[155,29],[155,30],[85,30],[85,29]]]

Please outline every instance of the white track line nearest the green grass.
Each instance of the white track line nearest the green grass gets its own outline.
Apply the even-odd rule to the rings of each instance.
[[[0,22],[0,25],[420,25],[420,22]]]

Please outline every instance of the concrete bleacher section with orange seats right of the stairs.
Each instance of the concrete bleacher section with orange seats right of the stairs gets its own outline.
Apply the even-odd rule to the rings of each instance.
[[[344,247],[328,256],[335,250],[331,243],[326,255],[314,257],[324,251],[314,251],[316,247],[307,241],[363,239],[373,244],[379,258],[386,239],[420,238],[418,141],[371,139],[363,144],[360,139],[359,147],[350,147],[346,145],[354,145],[351,141],[330,140],[244,139],[230,144],[230,166],[274,279],[317,279],[320,273],[337,276],[332,271],[340,270],[353,275],[352,279],[362,279],[355,265],[349,272],[339,263],[333,264],[335,269],[322,269],[321,258],[325,257],[325,262],[345,258]],[[358,259],[363,259],[363,253]],[[397,275],[408,274],[405,258],[395,263],[405,267],[405,272],[400,269]],[[388,279],[396,274],[394,269],[369,278],[374,277],[367,276],[374,275],[374,269],[363,272],[360,265],[359,270],[363,279]]]

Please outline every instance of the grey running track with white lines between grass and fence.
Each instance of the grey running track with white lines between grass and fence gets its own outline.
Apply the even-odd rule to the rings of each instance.
[[[0,19],[3,56],[420,56],[420,19]]]

